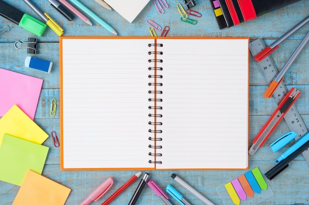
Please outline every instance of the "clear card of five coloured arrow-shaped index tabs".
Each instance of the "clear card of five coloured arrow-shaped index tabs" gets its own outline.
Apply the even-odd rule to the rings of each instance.
[[[258,167],[216,187],[216,190],[226,205],[257,205],[273,196]]]

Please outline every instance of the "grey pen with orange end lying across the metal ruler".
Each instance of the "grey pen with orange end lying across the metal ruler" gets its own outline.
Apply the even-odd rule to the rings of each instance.
[[[309,19],[309,18],[308,18]],[[283,80],[283,76],[285,72],[290,68],[294,60],[297,58],[298,54],[301,52],[301,50],[304,48],[306,43],[309,40],[309,32],[306,34],[304,39],[300,42],[300,44],[297,46],[289,60],[285,63],[285,65],[282,67],[280,72],[277,74],[277,76],[271,81],[269,87],[264,93],[265,98],[270,98],[273,94],[273,92],[278,88],[279,83]]]

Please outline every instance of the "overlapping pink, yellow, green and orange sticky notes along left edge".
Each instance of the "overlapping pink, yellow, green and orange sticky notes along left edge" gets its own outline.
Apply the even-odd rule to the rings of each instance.
[[[42,80],[0,68],[0,180],[21,186],[13,205],[64,205],[71,189],[41,175],[48,135],[33,121]]]

